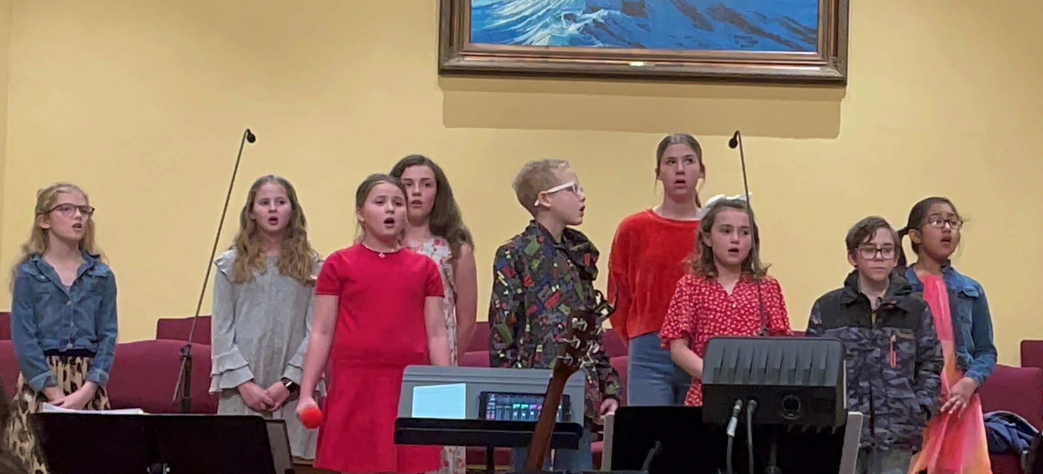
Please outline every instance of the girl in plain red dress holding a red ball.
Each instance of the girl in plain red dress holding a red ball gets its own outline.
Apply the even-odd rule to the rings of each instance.
[[[315,284],[315,323],[305,356],[299,416],[332,358],[315,467],[343,473],[420,473],[441,466],[441,447],[394,444],[407,365],[450,364],[434,260],[402,248],[406,190],[372,174],[356,193],[359,243],[331,255]]]

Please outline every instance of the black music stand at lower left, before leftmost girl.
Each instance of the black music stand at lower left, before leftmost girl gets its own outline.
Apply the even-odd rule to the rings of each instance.
[[[52,474],[275,472],[261,417],[40,412],[30,425]]]

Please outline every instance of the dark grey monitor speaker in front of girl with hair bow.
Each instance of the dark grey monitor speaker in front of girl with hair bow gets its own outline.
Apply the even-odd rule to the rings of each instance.
[[[736,400],[755,400],[756,425],[841,428],[848,416],[845,354],[844,342],[827,337],[710,338],[703,421],[727,424]]]

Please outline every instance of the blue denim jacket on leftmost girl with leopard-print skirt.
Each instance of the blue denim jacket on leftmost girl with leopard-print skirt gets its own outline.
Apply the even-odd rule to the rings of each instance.
[[[18,366],[37,392],[58,386],[47,356],[68,351],[93,354],[87,381],[105,386],[116,351],[116,276],[97,256],[83,264],[68,289],[43,256],[18,266],[10,333]]]

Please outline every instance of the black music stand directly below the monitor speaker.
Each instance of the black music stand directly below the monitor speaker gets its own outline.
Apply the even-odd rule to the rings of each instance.
[[[853,474],[858,456],[862,413],[851,412],[845,429],[831,431],[787,432],[778,436],[776,466],[783,473]],[[736,430],[733,470],[749,471],[745,445],[746,427]],[[615,411],[611,426],[606,426],[602,466],[607,472],[641,471],[649,452],[660,449],[648,466],[648,474],[718,474],[725,472],[727,433],[725,426],[703,422],[697,406],[624,406]],[[769,429],[754,429],[754,472],[765,472],[769,465]],[[815,453],[809,455],[808,453]]]

